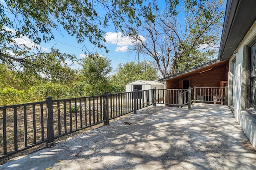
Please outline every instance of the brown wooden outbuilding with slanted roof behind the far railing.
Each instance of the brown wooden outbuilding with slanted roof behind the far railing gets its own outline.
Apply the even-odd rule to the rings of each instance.
[[[228,85],[228,60],[218,59],[189,70],[162,78],[165,89],[188,89],[189,87],[225,87]]]

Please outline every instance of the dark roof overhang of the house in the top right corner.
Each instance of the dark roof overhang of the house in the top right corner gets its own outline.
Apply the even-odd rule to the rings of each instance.
[[[256,0],[227,0],[219,60],[230,59],[256,19]]]

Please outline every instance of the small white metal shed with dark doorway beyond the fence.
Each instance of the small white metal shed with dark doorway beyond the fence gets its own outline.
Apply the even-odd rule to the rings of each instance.
[[[147,80],[136,80],[134,82],[130,82],[126,84],[125,92],[132,92],[134,89],[137,90],[150,90],[150,89],[163,89],[164,84],[155,82],[155,81],[147,81]],[[162,94],[163,95],[163,94]],[[158,90],[156,90],[156,96],[158,96]],[[162,98],[163,96],[159,96]]]

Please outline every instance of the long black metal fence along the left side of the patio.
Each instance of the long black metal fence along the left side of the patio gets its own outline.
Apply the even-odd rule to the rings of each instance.
[[[139,96],[139,98],[138,98]],[[0,106],[0,157],[156,104],[156,89]]]

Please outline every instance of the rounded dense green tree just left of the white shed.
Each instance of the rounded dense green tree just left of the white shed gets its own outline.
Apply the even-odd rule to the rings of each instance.
[[[85,86],[86,94],[99,95],[106,91],[107,76],[112,69],[110,60],[96,53],[82,59],[80,64],[82,65],[82,80],[87,84]]]

